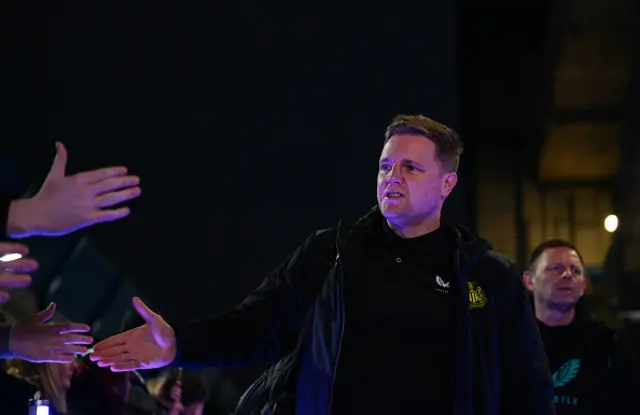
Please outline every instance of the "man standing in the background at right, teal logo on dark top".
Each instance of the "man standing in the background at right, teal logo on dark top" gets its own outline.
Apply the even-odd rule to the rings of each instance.
[[[588,280],[576,247],[561,239],[538,245],[523,280],[554,372],[556,413],[640,413],[631,395],[640,386],[632,359],[616,333],[580,303]]]

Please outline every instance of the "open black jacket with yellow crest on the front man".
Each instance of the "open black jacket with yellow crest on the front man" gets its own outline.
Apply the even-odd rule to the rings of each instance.
[[[354,225],[311,235],[235,310],[176,327],[175,364],[277,363],[245,393],[244,414],[328,415],[345,329],[344,278],[377,208]],[[520,275],[490,245],[457,234],[454,358],[456,415],[554,414],[552,382]]]

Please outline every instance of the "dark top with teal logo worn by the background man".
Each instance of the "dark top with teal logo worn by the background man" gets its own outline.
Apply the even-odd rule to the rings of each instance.
[[[638,365],[630,344],[581,306],[569,326],[540,324],[560,414],[637,414]]]

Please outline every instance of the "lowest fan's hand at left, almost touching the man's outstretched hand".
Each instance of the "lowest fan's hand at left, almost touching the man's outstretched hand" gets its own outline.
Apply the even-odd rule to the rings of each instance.
[[[51,303],[33,319],[13,326],[9,349],[14,357],[34,363],[71,363],[74,355],[87,352],[81,345],[93,343],[93,338],[77,333],[86,333],[91,327],[79,323],[44,324],[55,311],[56,306]]]

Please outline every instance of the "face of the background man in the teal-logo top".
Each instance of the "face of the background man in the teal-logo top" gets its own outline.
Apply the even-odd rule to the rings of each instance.
[[[536,301],[573,308],[587,288],[584,265],[573,249],[547,249],[534,268],[525,272],[523,279]]]

